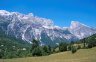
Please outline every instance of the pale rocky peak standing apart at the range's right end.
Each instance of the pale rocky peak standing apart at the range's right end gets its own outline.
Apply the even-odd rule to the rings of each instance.
[[[72,21],[69,31],[79,39],[91,36],[96,33],[96,29],[86,26],[77,21]]]

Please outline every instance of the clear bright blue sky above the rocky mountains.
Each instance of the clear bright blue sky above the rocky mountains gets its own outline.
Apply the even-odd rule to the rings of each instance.
[[[96,27],[96,0],[0,0],[0,9],[52,19],[58,26],[79,21]]]

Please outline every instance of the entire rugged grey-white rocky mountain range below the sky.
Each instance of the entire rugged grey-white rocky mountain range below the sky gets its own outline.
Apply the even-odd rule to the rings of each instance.
[[[96,33],[96,29],[78,21],[72,21],[70,27],[54,25],[50,19],[34,16],[32,13],[21,14],[0,10],[0,31],[31,43],[33,39],[41,45],[55,45],[83,39]]]

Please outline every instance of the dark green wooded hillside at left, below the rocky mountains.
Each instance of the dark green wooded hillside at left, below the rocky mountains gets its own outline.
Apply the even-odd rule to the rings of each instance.
[[[0,59],[23,57],[26,55],[25,53],[29,52],[29,47],[30,44],[27,42],[0,32]],[[26,51],[23,51],[23,49],[26,49]]]

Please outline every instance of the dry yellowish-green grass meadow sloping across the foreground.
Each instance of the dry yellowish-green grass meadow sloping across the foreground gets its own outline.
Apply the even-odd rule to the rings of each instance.
[[[96,47],[80,49],[75,54],[67,51],[42,57],[0,59],[0,62],[96,62]]]

